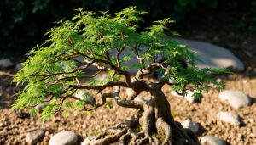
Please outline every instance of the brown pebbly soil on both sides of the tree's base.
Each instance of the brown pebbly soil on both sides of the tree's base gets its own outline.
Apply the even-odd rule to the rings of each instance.
[[[112,109],[97,109],[93,114],[82,110],[74,110],[68,117],[55,115],[43,122],[38,116],[29,117],[25,113],[10,111],[14,103],[15,84],[11,83],[15,70],[0,72],[0,144],[27,144],[26,133],[38,128],[44,129],[45,137],[38,144],[48,144],[50,137],[59,131],[73,131],[79,135],[79,142],[84,137],[96,135],[105,128],[118,124],[135,112],[133,109],[119,108],[113,103]],[[219,76],[218,81],[224,81],[227,90],[238,90],[256,99],[256,78],[243,75]],[[169,86],[164,86],[172,106],[175,120],[191,119],[200,124],[198,137],[212,135],[220,137],[232,145],[256,145],[256,103],[249,107],[233,109],[230,104],[218,98],[218,92],[210,91],[203,94],[201,103],[189,103],[183,98],[173,97]],[[125,93],[125,92],[124,92]],[[241,117],[241,126],[224,123],[217,119],[220,111],[229,111]]]

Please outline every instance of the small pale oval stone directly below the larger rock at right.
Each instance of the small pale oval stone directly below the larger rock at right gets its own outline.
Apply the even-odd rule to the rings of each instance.
[[[236,114],[232,114],[230,112],[219,112],[217,114],[218,120],[221,120],[226,123],[230,123],[232,125],[240,125],[241,121],[239,120],[239,116]]]

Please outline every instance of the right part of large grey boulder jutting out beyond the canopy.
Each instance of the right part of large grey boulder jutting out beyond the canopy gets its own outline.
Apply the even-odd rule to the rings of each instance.
[[[187,45],[195,52],[195,56],[203,62],[195,62],[199,68],[232,68],[234,70],[244,70],[241,60],[224,47],[218,47],[208,42],[199,42],[185,39],[176,39],[177,42]]]

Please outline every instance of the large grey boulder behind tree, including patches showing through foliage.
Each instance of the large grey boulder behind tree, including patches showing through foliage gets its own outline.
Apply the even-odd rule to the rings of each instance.
[[[208,42],[198,42],[198,41],[192,41],[192,40],[186,40],[186,39],[180,39],[175,38],[177,42],[180,42],[184,45],[187,45],[189,47],[189,50],[195,53],[195,56],[197,56],[199,59],[202,60],[202,62],[195,62],[196,66],[199,68],[233,68],[234,70],[244,70],[244,64],[241,63],[239,59],[236,58],[236,56],[231,53],[229,50],[225,49],[224,47],[218,47],[215,45],[212,45]],[[146,50],[145,47],[141,47],[141,50]],[[115,55],[115,51],[110,52],[110,55]],[[121,53],[120,58],[124,58],[125,56],[131,55],[131,49],[125,48],[125,50]],[[79,61],[84,61],[84,57],[77,58]],[[160,60],[162,58],[159,57]],[[139,60],[137,60],[136,55],[131,55],[131,59],[125,62],[125,66],[127,65],[134,65],[138,64]],[[89,70],[98,70],[96,64],[93,64],[94,66],[90,66]],[[145,62],[145,65],[148,65],[148,62]],[[137,73],[136,67],[131,67],[128,71],[135,75]],[[173,81],[173,80],[171,80]]]

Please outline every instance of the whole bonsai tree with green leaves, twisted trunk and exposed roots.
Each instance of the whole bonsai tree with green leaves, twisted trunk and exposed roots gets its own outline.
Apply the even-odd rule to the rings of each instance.
[[[45,120],[68,108],[98,109],[113,99],[121,107],[137,109],[137,113],[102,131],[91,144],[200,144],[189,129],[173,120],[161,88],[167,84],[184,95],[192,90],[194,97],[200,98],[204,90],[222,89],[223,85],[207,74],[223,70],[197,68],[194,54],[166,35],[166,25],[172,20],[154,21],[146,31],[137,32],[146,13],[135,7],[113,16],[83,8],[77,11],[72,20],[57,22],[58,26],[46,33],[49,39],[28,53],[28,60],[15,75],[14,80],[26,87],[17,93],[13,109],[28,108],[31,114],[38,114],[34,107],[47,102],[41,112]],[[131,59],[137,63],[129,63]],[[188,66],[183,67],[181,61]],[[131,75],[132,69],[137,70],[135,75]],[[108,77],[97,80],[102,71]],[[154,72],[162,77],[150,81],[148,75]],[[130,96],[121,95],[124,88],[131,89]],[[81,91],[83,98],[76,97]],[[150,100],[136,101],[141,92],[149,92]]]

